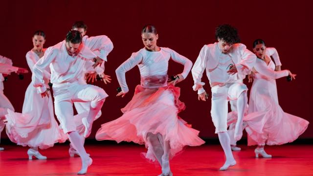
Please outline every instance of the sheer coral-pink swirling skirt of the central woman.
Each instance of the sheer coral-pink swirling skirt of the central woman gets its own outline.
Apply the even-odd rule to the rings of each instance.
[[[120,118],[103,124],[96,133],[97,140],[133,141],[148,148],[145,157],[155,161],[146,139],[148,132],[160,133],[169,140],[170,156],[178,154],[184,146],[199,146],[204,141],[199,131],[192,129],[177,113],[185,109],[179,101],[180,88],[166,86],[143,88],[137,86],[133,99],[122,109]]]

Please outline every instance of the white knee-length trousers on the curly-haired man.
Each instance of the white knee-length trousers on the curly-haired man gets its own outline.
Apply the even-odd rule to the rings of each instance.
[[[248,88],[243,83],[231,83],[211,88],[211,117],[215,133],[227,132],[228,101],[237,100],[240,94],[247,90]]]

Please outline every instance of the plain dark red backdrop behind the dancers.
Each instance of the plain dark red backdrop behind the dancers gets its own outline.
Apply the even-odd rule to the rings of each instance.
[[[283,110],[312,122],[313,98],[312,82],[312,13],[308,1],[166,1],[148,2],[132,0],[1,0],[0,2],[0,55],[12,59],[14,66],[26,67],[25,54],[32,45],[32,35],[36,30],[46,33],[45,47],[62,41],[75,21],[83,20],[89,29],[87,35],[107,35],[114,44],[108,56],[106,74],[112,75],[112,83],[96,83],[110,95],[102,108],[103,115],[93,126],[91,138],[100,125],[121,116],[120,109],[132,98],[134,87],[139,83],[138,68],[126,74],[130,93],[115,97],[118,83],[115,69],[132,52],[143,47],[141,28],[147,23],[156,25],[158,45],[170,47],[193,63],[204,44],[214,43],[217,25],[230,23],[235,26],[243,44],[252,50],[252,42],[262,38],[267,46],[275,47],[282,62],[282,69],[290,69],[297,74],[296,80],[277,80],[279,102]],[[169,75],[178,74],[183,67],[171,62]],[[210,92],[207,78],[205,88]],[[12,102],[16,112],[22,111],[25,90],[31,81],[31,74],[19,80],[15,74],[4,83],[4,93]],[[245,80],[245,82],[247,82]],[[181,116],[200,130],[201,137],[217,137],[210,117],[211,102],[199,102],[192,90],[191,74],[179,83],[181,101],[187,108]],[[251,84],[247,83],[250,88]],[[5,136],[5,132],[2,136]],[[312,138],[313,128],[309,125],[301,138]]]

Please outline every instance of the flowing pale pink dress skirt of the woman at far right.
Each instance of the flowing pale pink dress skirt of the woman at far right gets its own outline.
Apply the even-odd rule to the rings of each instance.
[[[256,67],[264,65],[262,62],[256,62]],[[273,71],[275,65],[270,62],[267,67]],[[281,145],[292,142],[309,125],[307,120],[282,110],[278,104],[275,79],[260,73],[254,74],[248,113],[244,117],[248,124],[248,145]]]

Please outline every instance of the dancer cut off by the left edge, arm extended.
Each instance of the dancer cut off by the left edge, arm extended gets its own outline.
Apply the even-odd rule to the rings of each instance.
[[[11,72],[20,73],[28,73],[26,68],[19,68],[16,66],[12,66],[12,60],[0,55],[0,137],[1,132],[5,127],[4,119],[5,115],[8,113],[7,110],[13,110],[13,105],[9,101],[9,99],[3,93],[3,81],[4,77],[8,76]],[[3,147],[0,147],[0,151],[4,150]]]

